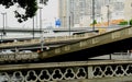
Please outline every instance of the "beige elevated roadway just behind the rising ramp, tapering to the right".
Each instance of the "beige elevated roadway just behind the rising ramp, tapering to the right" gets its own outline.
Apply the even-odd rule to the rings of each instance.
[[[29,39],[23,42],[13,42],[13,43],[2,43],[0,44],[0,49],[9,49],[9,48],[28,48],[28,47],[38,47],[41,46],[42,42],[44,46],[52,47],[54,45],[64,45],[68,43],[75,43],[91,36],[97,35],[97,33],[88,33],[88,34],[81,34],[81,35],[73,35],[73,36],[58,36],[58,37],[51,37],[51,38],[44,38],[43,40],[40,38],[36,39]]]

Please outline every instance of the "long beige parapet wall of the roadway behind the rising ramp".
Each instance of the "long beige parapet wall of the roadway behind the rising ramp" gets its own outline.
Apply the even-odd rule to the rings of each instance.
[[[73,40],[73,39],[84,39],[94,36],[95,34],[81,34],[81,35],[73,35],[73,36],[58,36],[58,37],[51,37],[51,38],[44,38],[44,44],[51,44],[51,43],[58,43],[64,40]],[[29,45],[35,45],[40,44],[41,39],[31,39],[31,40],[24,40],[24,42],[14,42],[14,43],[2,43],[0,44],[0,48],[7,48],[7,47],[16,47],[16,46],[29,46]]]

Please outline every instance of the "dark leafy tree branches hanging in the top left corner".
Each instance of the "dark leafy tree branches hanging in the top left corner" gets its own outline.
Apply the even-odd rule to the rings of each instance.
[[[48,0],[41,0],[43,4],[46,4]],[[26,21],[29,17],[33,17],[38,9],[36,0],[0,0],[0,4],[4,5],[6,9],[16,4],[18,8],[22,8],[25,10],[24,13],[20,13],[19,11],[14,11],[15,17],[18,22]]]

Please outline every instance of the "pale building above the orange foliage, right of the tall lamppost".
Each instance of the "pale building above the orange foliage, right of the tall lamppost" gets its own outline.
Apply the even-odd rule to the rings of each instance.
[[[124,19],[124,0],[109,0],[101,5],[102,22]]]

